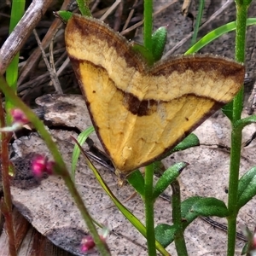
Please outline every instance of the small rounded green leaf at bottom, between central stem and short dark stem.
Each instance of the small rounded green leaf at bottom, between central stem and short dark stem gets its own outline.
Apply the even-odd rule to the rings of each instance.
[[[159,224],[155,227],[155,239],[160,242],[162,247],[167,247],[172,241],[174,241],[177,228],[168,224]]]

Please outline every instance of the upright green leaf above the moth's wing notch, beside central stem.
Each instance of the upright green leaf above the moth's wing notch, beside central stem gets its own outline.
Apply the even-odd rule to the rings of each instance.
[[[166,26],[160,26],[152,35],[152,54],[154,61],[159,61],[163,55],[167,38]]]

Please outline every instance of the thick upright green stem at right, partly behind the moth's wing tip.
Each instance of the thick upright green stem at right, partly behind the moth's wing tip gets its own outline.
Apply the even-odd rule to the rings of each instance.
[[[238,1],[237,1],[238,2]],[[247,29],[247,9],[248,5],[236,3],[236,60],[244,62],[246,49],[246,29]],[[243,101],[243,88],[239,91],[233,101],[232,126],[241,119]],[[230,181],[228,198],[228,256],[235,254],[236,247],[236,217],[239,211],[237,207],[237,189],[239,180],[239,167],[241,159],[241,129],[232,128],[231,151],[230,151]]]

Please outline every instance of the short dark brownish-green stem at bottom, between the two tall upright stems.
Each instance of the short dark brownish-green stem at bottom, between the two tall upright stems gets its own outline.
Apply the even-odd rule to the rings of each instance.
[[[174,237],[175,247],[178,256],[187,256],[187,247],[183,234],[183,221],[181,216],[180,187],[177,180],[171,183],[172,186],[172,221],[177,227]]]

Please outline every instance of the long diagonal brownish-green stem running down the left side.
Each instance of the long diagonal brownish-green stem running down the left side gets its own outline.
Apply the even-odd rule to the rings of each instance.
[[[81,196],[79,195],[79,191],[76,189],[73,180],[67,171],[67,167],[64,161],[61,158],[61,154],[58,151],[55,143],[53,142],[52,138],[50,137],[48,131],[45,130],[44,124],[38,119],[38,117],[32,112],[30,108],[24,104],[15,96],[15,93],[12,89],[9,88],[9,85],[6,84],[5,80],[2,76],[0,76],[0,89],[3,90],[5,96],[8,96],[12,103],[16,106],[16,108],[20,108],[24,113],[26,113],[26,117],[32,122],[32,125],[36,128],[40,136],[44,139],[44,143],[49,148],[49,152],[52,154],[55,160],[56,168],[55,173],[60,175],[64,182],[66,183],[67,189],[69,190],[70,195],[73,196],[73,200],[75,201],[79,211],[84,218],[84,222],[87,225],[88,229],[90,230],[90,234],[93,237],[98,250],[102,255],[109,255],[108,250],[106,249],[105,245],[102,243],[100,236],[96,231],[96,227],[93,224],[93,220],[90,217],[89,212],[87,211],[86,207],[84,206],[84,201],[82,200]]]

